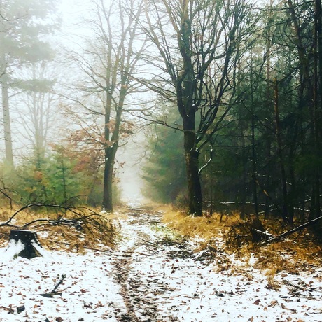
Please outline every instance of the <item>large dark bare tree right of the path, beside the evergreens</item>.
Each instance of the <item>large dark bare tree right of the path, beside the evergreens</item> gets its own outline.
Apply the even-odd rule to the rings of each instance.
[[[158,55],[144,83],[182,118],[190,214],[202,215],[200,150],[232,107],[235,71],[252,28],[242,0],[146,0],[142,27]],[[246,30],[246,27],[248,30]],[[153,52],[151,53],[153,55]]]

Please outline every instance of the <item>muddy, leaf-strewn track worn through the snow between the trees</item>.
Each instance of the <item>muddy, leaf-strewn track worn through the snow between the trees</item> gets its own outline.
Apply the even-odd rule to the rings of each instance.
[[[160,293],[165,293],[165,286],[158,284],[158,280],[146,279],[146,276],[130,274],[130,272],[133,260],[140,260],[141,256],[149,255],[148,250],[144,253],[137,252],[137,248],[150,239],[146,234],[145,226],[160,223],[161,215],[144,209],[129,209],[129,219],[126,227],[123,227],[123,232],[128,235],[127,243],[121,242],[119,249],[113,253],[115,267],[113,274],[120,285],[120,293],[125,302],[125,310],[115,309],[118,321],[160,321],[157,318],[158,307],[155,305],[154,298],[157,298]],[[151,292],[151,283],[153,283],[153,292]]]

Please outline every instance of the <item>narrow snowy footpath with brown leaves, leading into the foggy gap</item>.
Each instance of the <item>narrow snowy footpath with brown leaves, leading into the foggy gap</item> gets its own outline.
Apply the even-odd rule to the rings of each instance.
[[[133,267],[133,264],[160,251],[155,245],[153,228],[160,225],[161,216],[160,211],[130,207],[127,219],[120,222],[122,239],[113,252],[113,275],[120,285],[126,311],[120,308],[115,310],[118,321],[177,321],[171,316],[167,320],[165,316],[158,317],[158,305],[155,303],[161,294],[169,291],[167,285],[159,283],[158,276],[151,274],[151,271],[137,272],[137,268]]]

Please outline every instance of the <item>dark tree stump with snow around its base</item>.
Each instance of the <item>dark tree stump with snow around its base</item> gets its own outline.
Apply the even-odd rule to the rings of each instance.
[[[41,247],[37,239],[37,233],[31,230],[10,230],[9,241],[14,240],[16,243],[20,241],[24,248],[20,253],[15,254],[23,258],[41,257],[41,253],[35,248],[35,244]]]

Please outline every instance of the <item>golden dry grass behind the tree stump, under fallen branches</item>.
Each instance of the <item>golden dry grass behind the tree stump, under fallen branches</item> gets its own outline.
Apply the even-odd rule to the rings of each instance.
[[[13,216],[19,209],[14,206],[13,209],[0,209],[0,223],[8,221],[10,216]],[[42,209],[25,209],[15,215],[11,224],[18,227],[10,227],[4,225],[0,227],[0,245],[1,247],[8,244],[10,230],[20,229],[26,223],[36,221],[28,225],[27,230],[37,232],[40,244],[48,250],[63,250],[82,253],[87,248],[97,248],[100,250],[113,247],[117,228],[111,220],[109,214],[102,216],[95,209],[78,208],[71,211],[64,209],[52,209],[48,211],[45,207]],[[44,221],[38,221],[44,219]],[[60,223],[59,219],[63,219]],[[69,220],[72,221],[69,223]],[[49,221],[58,221],[57,224]]]

